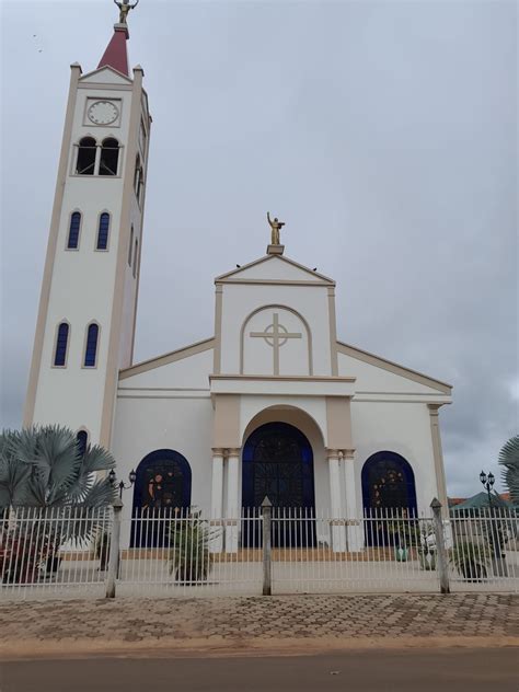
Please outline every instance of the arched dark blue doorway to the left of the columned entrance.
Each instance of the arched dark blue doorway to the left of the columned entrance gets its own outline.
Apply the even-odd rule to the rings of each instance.
[[[168,522],[146,521],[146,517],[174,516],[191,507],[189,462],[172,449],[147,454],[137,466],[134,489],[131,547],[162,547],[168,544]],[[159,528],[160,527],[160,528]]]

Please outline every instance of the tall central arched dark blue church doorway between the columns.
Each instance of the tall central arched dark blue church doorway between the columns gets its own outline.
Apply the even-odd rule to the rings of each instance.
[[[315,491],[313,451],[307,437],[288,423],[266,423],[252,432],[243,447],[242,504],[246,508],[261,507],[268,497],[276,516],[273,545],[302,545],[313,542],[314,526],[290,520],[304,509],[313,517]],[[278,510],[278,511],[276,511]],[[281,515],[280,510],[284,510]],[[257,522],[256,522],[257,523]],[[303,538],[305,540],[303,541]],[[242,543],[252,544],[249,530],[242,532]],[[258,545],[258,535],[254,543]]]

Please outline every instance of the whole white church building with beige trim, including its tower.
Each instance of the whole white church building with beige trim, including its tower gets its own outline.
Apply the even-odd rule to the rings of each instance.
[[[447,506],[451,387],[339,341],[335,281],[289,258],[278,229],[215,279],[207,339],[132,362],[151,117],[127,39],[116,24],[96,70],[71,66],[24,425],[69,426],[119,478],[135,470],[126,516],[234,517],[265,496],[348,518]]]

